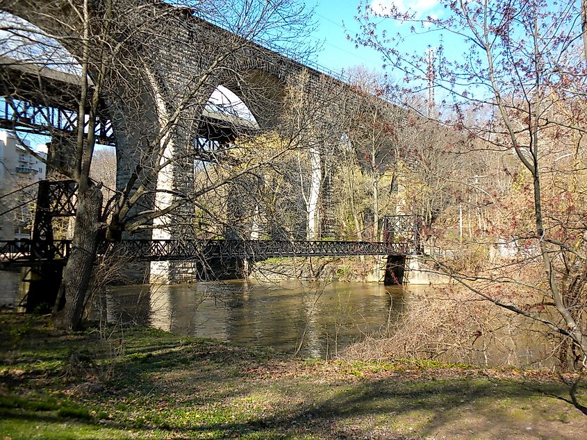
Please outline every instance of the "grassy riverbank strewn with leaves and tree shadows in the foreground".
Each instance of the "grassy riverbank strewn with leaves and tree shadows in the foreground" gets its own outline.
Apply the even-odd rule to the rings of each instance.
[[[579,439],[576,380],[293,359],[146,328],[66,335],[0,313],[2,439]]]

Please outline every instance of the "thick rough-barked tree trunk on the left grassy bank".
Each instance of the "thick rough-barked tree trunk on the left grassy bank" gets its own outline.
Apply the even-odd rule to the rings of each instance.
[[[66,330],[77,330],[81,324],[96,252],[104,232],[101,208],[102,193],[98,187],[78,193],[74,241],[59,292],[59,297],[65,295],[65,309],[56,316],[57,324]]]

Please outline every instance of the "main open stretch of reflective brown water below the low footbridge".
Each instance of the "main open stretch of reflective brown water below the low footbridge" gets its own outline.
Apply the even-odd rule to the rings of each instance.
[[[406,302],[402,287],[372,283],[230,280],[111,288],[106,314],[110,322],[330,357],[393,328]]]

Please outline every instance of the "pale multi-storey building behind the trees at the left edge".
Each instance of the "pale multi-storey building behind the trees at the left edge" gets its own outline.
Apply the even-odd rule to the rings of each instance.
[[[45,164],[26,151],[15,135],[0,131],[0,239],[31,237],[38,188],[33,184],[44,179],[45,172]]]

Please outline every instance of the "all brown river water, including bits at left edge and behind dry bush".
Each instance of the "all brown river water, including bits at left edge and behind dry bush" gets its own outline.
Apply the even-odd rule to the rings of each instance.
[[[19,273],[0,271],[0,307],[18,304],[18,282]],[[94,316],[113,325],[151,325],[183,335],[329,358],[367,336],[401,332],[400,317],[415,316],[417,301],[434,289],[299,280],[132,285],[109,287],[94,301]],[[505,324],[499,318],[497,326],[502,330],[491,333],[491,340],[476,339],[466,358],[449,360],[552,366],[552,360],[543,360],[549,348],[539,342],[534,329],[506,331],[511,322]],[[472,335],[475,329],[470,328]],[[476,353],[481,345],[484,349]]]

